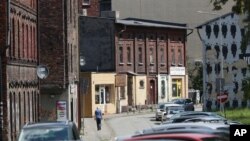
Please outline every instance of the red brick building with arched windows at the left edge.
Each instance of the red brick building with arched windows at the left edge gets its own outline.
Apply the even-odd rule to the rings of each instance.
[[[0,2],[0,140],[15,141],[39,118],[37,2]]]

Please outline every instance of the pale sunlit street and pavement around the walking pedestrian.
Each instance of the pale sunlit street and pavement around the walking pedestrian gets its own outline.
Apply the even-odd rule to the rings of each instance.
[[[195,109],[200,111],[201,106],[198,105]],[[116,136],[126,136],[137,130],[154,126],[156,124],[153,121],[154,114],[155,111],[145,110],[135,113],[104,115],[101,130],[97,130],[94,118],[85,118],[84,130],[81,132],[82,140],[114,141]]]

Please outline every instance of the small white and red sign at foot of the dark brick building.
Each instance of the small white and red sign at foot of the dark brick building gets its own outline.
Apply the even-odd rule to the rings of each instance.
[[[67,102],[66,101],[56,102],[56,116],[57,116],[57,121],[67,120]]]

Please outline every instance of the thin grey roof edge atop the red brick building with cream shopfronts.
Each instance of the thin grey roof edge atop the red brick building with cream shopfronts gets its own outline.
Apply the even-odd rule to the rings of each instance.
[[[156,28],[175,28],[175,29],[192,29],[188,28],[186,24],[180,23],[168,23],[153,20],[142,20],[142,19],[116,19],[117,24],[127,25],[127,26],[142,26],[142,27],[156,27]]]

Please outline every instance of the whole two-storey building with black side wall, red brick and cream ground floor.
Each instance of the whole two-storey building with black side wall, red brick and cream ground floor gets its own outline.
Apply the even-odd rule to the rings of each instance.
[[[81,16],[80,79],[84,114],[154,105],[188,97],[186,24]],[[82,61],[81,61],[82,60]],[[82,63],[81,63],[82,62]]]

